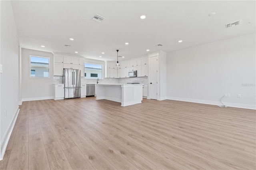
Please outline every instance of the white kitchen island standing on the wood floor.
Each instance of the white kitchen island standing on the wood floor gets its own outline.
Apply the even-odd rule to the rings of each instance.
[[[141,103],[142,84],[96,84],[96,100],[120,102],[121,106]]]

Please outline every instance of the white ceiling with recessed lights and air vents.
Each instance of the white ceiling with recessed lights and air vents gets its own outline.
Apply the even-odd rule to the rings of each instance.
[[[173,51],[256,30],[254,0],[18,0],[12,1],[12,6],[21,47],[73,55],[78,51],[80,56],[108,61],[116,61],[116,49],[125,56],[119,58],[122,61],[152,51]],[[208,16],[211,12],[216,15]],[[95,14],[106,19],[101,23],[92,21]],[[140,19],[141,15],[146,19]],[[225,27],[238,20],[240,25]],[[180,39],[182,43],[178,43]],[[164,46],[155,47],[159,43]],[[64,47],[65,44],[71,47]]]

